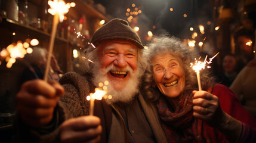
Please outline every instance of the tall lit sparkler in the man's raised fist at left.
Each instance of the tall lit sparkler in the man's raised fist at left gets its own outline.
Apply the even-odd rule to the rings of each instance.
[[[54,45],[54,39],[55,39],[55,35],[56,35],[58,21],[62,22],[64,19],[64,14],[69,12],[69,8],[75,7],[75,5],[73,5],[75,3],[72,3],[70,6],[69,3],[65,4],[65,2],[63,0],[48,1],[48,4],[51,7],[48,9],[48,13],[54,15],[54,17],[53,17],[53,28],[51,29],[47,66],[45,68],[45,74],[44,74],[45,81],[47,81],[48,73],[50,70],[51,53],[53,52],[53,45]]]

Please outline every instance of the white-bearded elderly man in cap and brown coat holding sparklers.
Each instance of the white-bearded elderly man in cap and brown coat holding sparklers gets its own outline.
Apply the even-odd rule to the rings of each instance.
[[[42,80],[22,86],[17,94],[17,110],[25,123],[21,128],[29,126],[29,135],[42,142],[85,142],[98,135],[100,142],[166,142],[155,106],[140,94],[146,64],[137,33],[116,18],[98,29],[91,43],[96,48],[88,47],[83,56],[94,63],[84,64],[83,75],[66,73],[60,79],[64,91],[58,83]],[[87,95],[106,80],[112,99],[96,100],[97,117],[87,116]]]

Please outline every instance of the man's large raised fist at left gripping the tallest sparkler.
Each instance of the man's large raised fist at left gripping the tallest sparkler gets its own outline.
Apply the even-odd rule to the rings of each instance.
[[[55,81],[48,83],[36,79],[25,82],[16,96],[17,112],[29,126],[48,125],[53,119],[58,98],[63,93],[63,87]]]

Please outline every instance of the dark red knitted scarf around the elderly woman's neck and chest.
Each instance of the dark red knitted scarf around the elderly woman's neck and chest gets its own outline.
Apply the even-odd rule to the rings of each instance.
[[[208,135],[203,132],[202,120],[193,117],[193,95],[184,94],[177,105],[171,110],[169,102],[161,95],[156,107],[162,121],[162,128],[168,142],[208,142]]]

